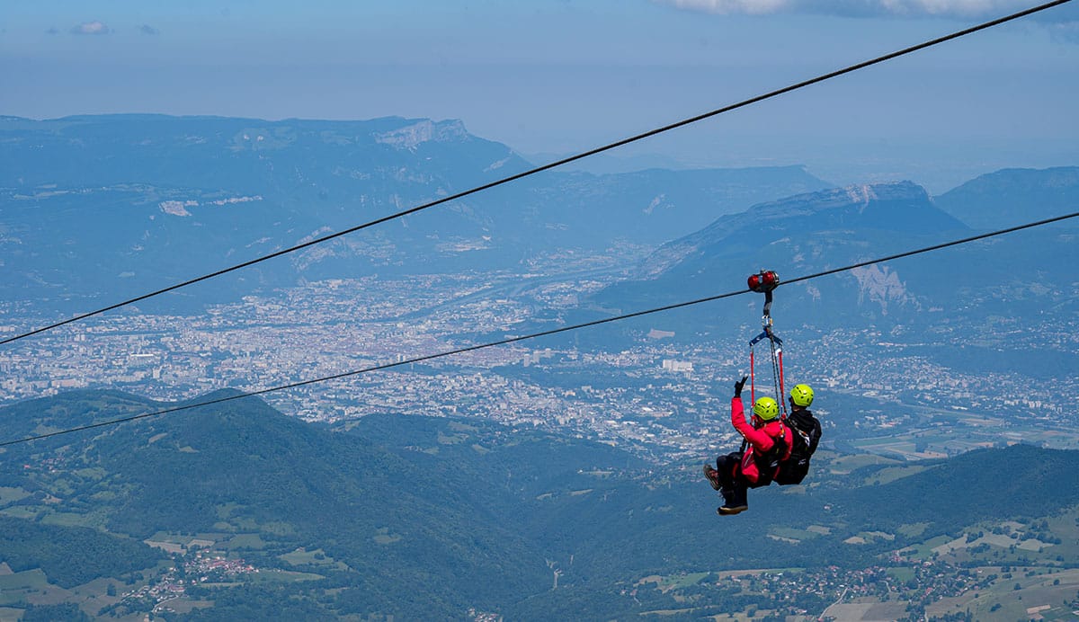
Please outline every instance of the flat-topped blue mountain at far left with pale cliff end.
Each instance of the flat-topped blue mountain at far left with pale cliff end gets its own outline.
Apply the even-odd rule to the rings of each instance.
[[[4,294],[120,298],[525,167],[509,148],[453,121],[8,118],[0,122],[0,249],[12,276]],[[398,240],[386,232],[354,236],[193,291],[213,298],[291,284],[340,257],[367,269],[396,263],[395,244],[448,224],[445,233],[482,230],[454,212]]]

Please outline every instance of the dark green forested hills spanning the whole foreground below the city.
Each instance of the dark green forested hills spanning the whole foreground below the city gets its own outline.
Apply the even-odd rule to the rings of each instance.
[[[161,405],[81,391],[2,409],[0,423],[17,438]],[[0,561],[19,573],[40,568],[52,602],[117,603],[91,603],[87,584],[149,577],[142,569],[166,555],[139,541],[169,534],[319,577],[269,594],[218,588],[213,619],[268,596],[300,600],[315,618],[636,616],[646,607],[620,594],[650,575],[857,566],[985,521],[1079,503],[1073,480],[1054,475],[1079,467],[1079,453],[1019,445],[849,475],[830,474],[823,457],[809,486],[754,490],[750,513],[719,523],[696,464],[650,465],[603,444],[455,418],[370,416],[334,430],[255,398],[12,445],[0,464],[0,520],[11,523]],[[809,525],[820,526],[811,542],[777,536]],[[845,543],[868,531],[891,536]],[[83,545],[93,538],[103,541]],[[46,539],[52,548],[27,554]],[[325,557],[297,565],[297,551]]]

